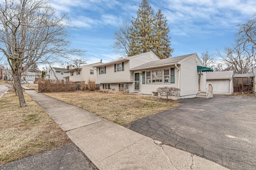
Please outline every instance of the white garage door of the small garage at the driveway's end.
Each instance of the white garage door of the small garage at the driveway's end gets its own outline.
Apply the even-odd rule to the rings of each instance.
[[[230,80],[207,80],[206,84],[212,84],[212,92],[229,93]]]

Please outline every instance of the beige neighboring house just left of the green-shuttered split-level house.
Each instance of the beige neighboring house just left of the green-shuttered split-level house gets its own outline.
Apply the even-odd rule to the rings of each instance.
[[[84,81],[86,84],[88,83],[88,80],[95,81],[97,84],[97,71],[95,66],[101,64],[94,63],[89,64],[86,66],[82,66],[79,68],[74,68],[72,70],[69,70],[69,81],[80,83],[81,81]],[[68,78],[68,77],[65,77]]]

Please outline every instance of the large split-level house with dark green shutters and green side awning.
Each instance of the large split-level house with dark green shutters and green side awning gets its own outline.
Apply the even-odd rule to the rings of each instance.
[[[196,53],[160,60],[148,52],[96,66],[97,82],[101,89],[124,87],[141,94],[152,94],[158,87],[176,87],[180,98],[194,98],[201,89],[202,71],[212,71],[202,65]]]

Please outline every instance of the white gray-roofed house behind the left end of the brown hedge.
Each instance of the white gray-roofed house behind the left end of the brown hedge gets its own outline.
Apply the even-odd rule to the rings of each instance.
[[[65,80],[64,77],[69,75],[69,67],[67,68],[57,68],[52,67],[50,68],[49,74],[44,75],[44,79],[51,79],[51,80]]]

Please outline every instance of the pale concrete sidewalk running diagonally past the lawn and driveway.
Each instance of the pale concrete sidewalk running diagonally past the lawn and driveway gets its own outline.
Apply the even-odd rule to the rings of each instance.
[[[34,90],[25,92],[101,170],[225,170],[210,160],[163,145],[93,113]]]

